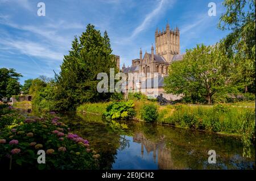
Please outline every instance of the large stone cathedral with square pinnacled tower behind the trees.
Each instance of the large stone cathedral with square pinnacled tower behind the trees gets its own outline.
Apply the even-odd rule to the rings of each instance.
[[[166,94],[163,90],[163,79],[168,75],[168,67],[174,61],[183,59],[183,54],[180,54],[180,31],[179,28],[174,30],[170,29],[169,24],[166,25],[166,30],[155,31],[155,52],[154,46],[151,46],[151,53],[145,52],[142,56],[142,49],[139,51],[139,58],[132,60],[131,66],[125,67],[123,64],[122,72],[127,74],[128,77],[133,74],[144,73],[142,82],[136,86],[136,82],[128,83],[126,89],[132,90],[133,92],[141,91],[143,82],[154,82],[156,80],[157,85],[150,87],[147,86],[146,92],[148,96],[156,97],[163,94],[168,100],[179,99],[180,96]],[[154,94],[157,92],[157,94]]]

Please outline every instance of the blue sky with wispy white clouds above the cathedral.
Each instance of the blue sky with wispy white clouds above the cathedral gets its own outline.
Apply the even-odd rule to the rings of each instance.
[[[38,2],[46,5],[46,16],[38,16]],[[208,3],[214,2],[216,16],[208,16]],[[60,71],[75,35],[88,23],[109,33],[113,53],[121,66],[150,52],[156,27],[180,29],[181,53],[196,44],[211,45],[227,32],[217,29],[221,13],[219,0],[0,0],[0,68],[14,68],[28,78],[53,77]]]

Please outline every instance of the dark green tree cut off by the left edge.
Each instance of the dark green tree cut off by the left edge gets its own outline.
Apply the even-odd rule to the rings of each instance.
[[[0,98],[11,98],[20,92],[19,77],[21,74],[16,73],[14,69],[0,69]]]

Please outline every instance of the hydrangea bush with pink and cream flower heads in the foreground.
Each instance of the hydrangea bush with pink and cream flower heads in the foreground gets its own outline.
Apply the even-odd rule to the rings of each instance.
[[[87,140],[68,133],[68,129],[59,117],[52,116],[26,119],[5,127],[0,136],[1,166],[5,169],[97,169],[100,155],[89,148]],[[37,162],[39,149],[46,151],[45,164]]]

